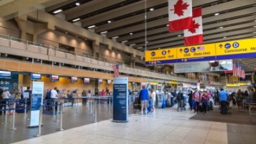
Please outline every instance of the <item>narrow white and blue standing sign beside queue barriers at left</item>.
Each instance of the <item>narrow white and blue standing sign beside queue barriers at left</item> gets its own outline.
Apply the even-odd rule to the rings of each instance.
[[[40,105],[43,104],[44,82],[33,82],[31,98],[31,114],[28,127],[39,125]]]

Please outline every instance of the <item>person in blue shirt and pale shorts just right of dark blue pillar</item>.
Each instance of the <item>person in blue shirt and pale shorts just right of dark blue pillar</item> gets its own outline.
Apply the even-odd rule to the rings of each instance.
[[[140,90],[140,104],[141,104],[141,115],[143,115],[143,110],[145,109],[145,114],[147,115],[148,108],[148,90],[145,85],[142,86]]]

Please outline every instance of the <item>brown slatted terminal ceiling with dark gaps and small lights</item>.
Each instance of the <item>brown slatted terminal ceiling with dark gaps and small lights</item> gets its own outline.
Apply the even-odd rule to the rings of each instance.
[[[146,2],[146,3],[145,3]],[[146,6],[146,9],[145,9]],[[204,43],[256,37],[255,0],[193,0],[202,7]],[[84,0],[65,1],[45,9],[52,15],[65,15],[68,22],[81,22],[85,29],[106,35],[139,51],[184,45],[182,31],[168,31],[166,0]],[[145,43],[145,11],[147,42]],[[253,71],[255,59],[234,60]]]

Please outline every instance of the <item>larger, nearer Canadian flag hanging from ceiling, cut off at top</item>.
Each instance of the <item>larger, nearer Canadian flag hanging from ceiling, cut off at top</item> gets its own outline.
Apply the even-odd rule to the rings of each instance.
[[[169,31],[192,28],[192,0],[168,0]]]

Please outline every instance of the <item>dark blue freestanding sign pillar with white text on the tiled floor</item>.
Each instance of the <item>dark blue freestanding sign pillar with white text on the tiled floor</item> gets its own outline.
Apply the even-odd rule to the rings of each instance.
[[[113,122],[128,122],[128,77],[114,78]]]

